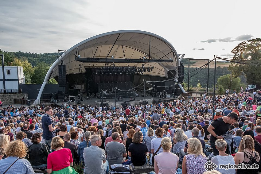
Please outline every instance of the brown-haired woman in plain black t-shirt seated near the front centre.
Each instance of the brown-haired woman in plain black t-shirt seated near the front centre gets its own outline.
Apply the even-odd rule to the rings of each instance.
[[[148,148],[146,143],[143,143],[142,140],[143,140],[142,132],[141,131],[135,132],[132,137],[133,143],[131,143],[128,148],[129,157],[131,157],[131,161],[135,166],[142,166],[147,164],[146,154],[148,152]]]

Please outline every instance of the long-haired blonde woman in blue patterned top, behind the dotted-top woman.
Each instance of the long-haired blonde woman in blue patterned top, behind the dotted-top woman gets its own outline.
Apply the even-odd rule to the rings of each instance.
[[[188,137],[183,130],[181,128],[177,128],[175,137],[173,138],[174,146],[172,152],[179,156],[179,152],[181,149],[184,149],[187,139]]]

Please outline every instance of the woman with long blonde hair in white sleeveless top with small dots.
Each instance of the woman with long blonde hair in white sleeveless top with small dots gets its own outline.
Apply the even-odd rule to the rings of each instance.
[[[182,161],[182,174],[205,172],[207,157],[202,151],[201,142],[197,138],[188,139],[188,153]]]

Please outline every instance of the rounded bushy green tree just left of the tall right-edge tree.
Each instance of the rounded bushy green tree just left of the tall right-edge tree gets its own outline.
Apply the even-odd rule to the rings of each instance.
[[[240,91],[240,87],[242,85],[241,79],[239,77],[232,76],[231,78],[231,91],[236,89],[237,92]],[[220,90],[220,83],[221,83],[221,91],[222,88],[224,91],[230,88],[230,74],[222,75],[217,79],[217,90]],[[245,86],[245,85],[243,85]]]

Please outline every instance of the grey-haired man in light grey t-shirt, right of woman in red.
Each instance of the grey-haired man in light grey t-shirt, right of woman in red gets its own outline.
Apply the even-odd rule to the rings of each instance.
[[[99,135],[92,135],[92,145],[84,149],[84,174],[106,174],[109,171],[105,151],[99,148],[101,142]]]

